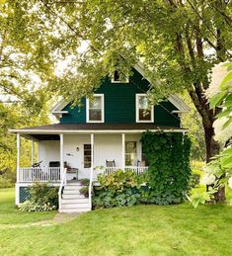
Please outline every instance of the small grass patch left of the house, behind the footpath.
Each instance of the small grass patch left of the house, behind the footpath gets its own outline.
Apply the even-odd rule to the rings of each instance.
[[[35,222],[51,219],[55,211],[49,213],[21,213],[15,208],[15,189],[0,189],[0,224]]]

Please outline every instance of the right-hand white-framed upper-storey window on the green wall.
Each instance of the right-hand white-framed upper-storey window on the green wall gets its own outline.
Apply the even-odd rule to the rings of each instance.
[[[136,94],[136,123],[153,123],[154,107],[148,109],[146,94]]]

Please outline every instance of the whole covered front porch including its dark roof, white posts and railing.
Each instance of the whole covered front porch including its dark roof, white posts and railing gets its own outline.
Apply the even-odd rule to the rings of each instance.
[[[109,175],[117,169],[132,170],[137,175],[147,171],[148,162],[140,138],[148,129],[186,131],[182,128],[157,128],[153,124],[56,124],[12,130],[17,133],[16,205],[22,202],[25,188],[35,182],[48,182],[59,187],[60,203],[63,188],[68,183],[89,179],[91,209],[91,191],[99,174]],[[21,165],[22,136],[32,142],[31,166]]]

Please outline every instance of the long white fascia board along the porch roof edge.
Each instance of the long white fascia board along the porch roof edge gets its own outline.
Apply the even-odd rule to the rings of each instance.
[[[164,131],[164,132],[187,132],[188,129],[162,129],[162,128],[154,128],[154,129],[50,129],[50,130],[43,130],[43,129],[10,129],[10,132],[21,133],[21,134],[76,134],[76,133],[142,133],[144,131]]]

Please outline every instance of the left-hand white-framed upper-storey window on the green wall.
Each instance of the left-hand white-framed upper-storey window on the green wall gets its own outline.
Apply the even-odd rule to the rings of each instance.
[[[86,99],[87,123],[104,123],[104,94],[95,94],[93,99]]]

